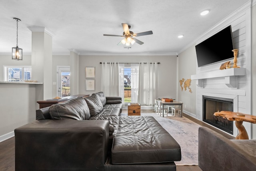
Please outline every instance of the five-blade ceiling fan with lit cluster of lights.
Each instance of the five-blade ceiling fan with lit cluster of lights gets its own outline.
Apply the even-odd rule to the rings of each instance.
[[[121,40],[121,42],[118,43],[119,44],[125,44],[126,46],[130,46],[130,44],[134,44],[135,42],[142,45],[144,44],[144,42],[136,39],[135,37],[138,36],[145,36],[145,35],[149,35],[149,34],[153,34],[152,31],[147,31],[147,32],[141,32],[141,33],[133,33],[132,31],[130,31],[129,29],[131,28],[131,26],[128,26],[128,24],[122,23],[124,32],[123,35],[113,35],[113,34],[103,34],[103,36],[117,36],[117,37],[124,37],[123,40]]]

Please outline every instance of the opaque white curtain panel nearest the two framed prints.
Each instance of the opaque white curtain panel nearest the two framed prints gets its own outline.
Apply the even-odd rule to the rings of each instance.
[[[118,64],[116,64],[116,62],[110,64],[107,64],[107,62],[102,63],[101,91],[104,92],[106,96],[119,96],[118,80]]]

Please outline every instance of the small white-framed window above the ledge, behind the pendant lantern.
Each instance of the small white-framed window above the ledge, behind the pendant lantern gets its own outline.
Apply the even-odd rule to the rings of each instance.
[[[31,66],[5,66],[4,81],[6,82],[24,82],[31,80]]]

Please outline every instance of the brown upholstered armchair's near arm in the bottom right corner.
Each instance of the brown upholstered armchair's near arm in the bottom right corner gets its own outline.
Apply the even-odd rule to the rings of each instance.
[[[198,166],[203,171],[253,171],[256,158],[207,127],[198,130]]]

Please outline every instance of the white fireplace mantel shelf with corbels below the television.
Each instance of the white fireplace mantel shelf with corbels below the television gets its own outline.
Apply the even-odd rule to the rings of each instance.
[[[203,81],[207,78],[225,78],[225,84],[230,88],[237,87],[237,76],[245,76],[246,68],[229,68],[226,70],[216,70],[211,72],[198,73],[191,76],[191,80],[196,80],[196,85],[198,87],[203,87]]]

